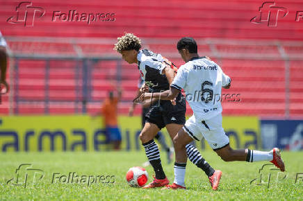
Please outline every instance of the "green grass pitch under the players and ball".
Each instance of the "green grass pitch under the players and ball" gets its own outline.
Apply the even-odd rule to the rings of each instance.
[[[218,191],[211,190],[206,175],[190,161],[186,168],[186,191],[129,187],[125,180],[126,171],[132,166],[142,166],[146,159],[142,151],[1,153],[0,200],[303,200],[303,152],[282,152],[286,177],[279,171],[264,169],[262,175],[265,183],[262,185],[256,185],[256,181],[260,178],[259,168],[265,162],[224,162],[215,152],[209,151],[202,152],[202,155],[211,166],[222,171]],[[173,182],[173,164],[166,163],[164,153],[161,157],[165,173],[170,182]],[[13,180],[7,184],[8,180],[16,177],[15,171],[20,164],[32,164],[32,168],[44,171],[44,177],[33,182],[30,171],[27,171],[26,188],[13,185]],[[87,176],[114,175],[115,182],[98,182],[89,186],[85,180],[83,184],[51,183],[53,173],[68,175],[69,172]],[[147,172],[150,182],[153,175],[151,166],[147,167]],[[26,172],[23,173],[25,175]],[[266,180],[269,173],[268,188]],[[20,177],[23,178],[24,175]],[[36,176],[39,177],[39,174]],[[255,178],[257,180],[249,184]]]

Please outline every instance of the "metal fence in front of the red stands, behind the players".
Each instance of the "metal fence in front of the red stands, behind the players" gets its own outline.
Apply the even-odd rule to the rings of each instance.
[[[113,86],[122,85],[120,113],[136,96],[139,73],[113,51],[116,39],[6,37],[10,55],[8,102],[1,113],[94,113]],[[183,64],[177,39],[142,40],[143,48]],[[197,40],[208,55],[233,78],[238,105],[224,102],[228,115],[285,117],[303,114],[303,42],[272,40]],[[269,104],[270,103],[270,104]],[[190,110],[189,110],[190,112]],[[138,113],[138,110],[137,112]]]

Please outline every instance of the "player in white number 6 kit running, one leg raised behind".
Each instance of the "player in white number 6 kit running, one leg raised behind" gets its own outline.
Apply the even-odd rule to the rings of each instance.
[[[191,37],[183,37],[177,44],[183,64],[170,85],[170,90],[161,93],[145,93],[141,100],[160,98],[172,100],[181,89],[186,91],[186,100],[193,109],[193,116],[174,137],[174,150],[177,164],[186,164],[186,145],[190,141],[201,140],[203,137],[224,161],[271,161],[281,171],[284,171],[284,162],[280,150],[273,148],[269,152],[259,150],[234,150],[229,146],[229,138],[222,128],[222,106],[216,96],[221,97],[221,88],[228,89],[231,79],[225,75],[215,62],[201,58],[197,54],[197,43]],[[152,98],[151,98],[152,97]],[[183,189],[185,187],[185,169],[174,168],[174,184],[167,185],[166,189]]]

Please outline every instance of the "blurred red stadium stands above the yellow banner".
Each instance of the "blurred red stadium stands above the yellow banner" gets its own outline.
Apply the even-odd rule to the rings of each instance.
[[[23,7],[22,1],[0,2],[10,84],[0,114],[95,114],[117,85],[123,91],[118,112],[127,114],[140,74],[135,64],[122,61],[113,50],[124,32],[134,33],[143,48],[161,53],[178,67],[183,60],[177,41],[194,37],[199,54],[218,62],[232,78],[231,89],[222,94],[240,94],[238,102],[222,101],[225,116],[303,114],[303,19],[296,21],[297,11],[303,10],[300,0],[276,2],[288,12],[285,17],[278,13],[276,26],[270,24],[272,19],[251,21],[261,11],[263,16],[275,11],[268,5],[259,8],[264,3],[259,0],[42,0]],[[72,12],[111,13],[112,18],[90,24],[65,19]],[[54,21],[55,13],[66,15]],[[140,114],[140,107],[134,114]]]

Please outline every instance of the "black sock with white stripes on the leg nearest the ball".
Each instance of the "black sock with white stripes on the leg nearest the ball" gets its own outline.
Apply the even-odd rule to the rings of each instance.
[[[158,180],[165,179],[166,176],[161,165],[160,152],[157,144],[154,142],[154,139],[152,139],[147,143],[143,143],[142,145],[145,148],[145,153],[147,155],[149,163],[154,168],[156,179]]]

